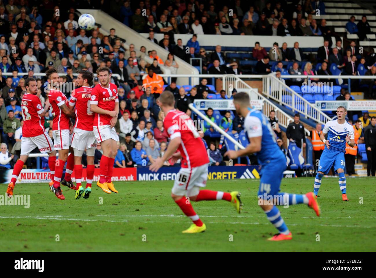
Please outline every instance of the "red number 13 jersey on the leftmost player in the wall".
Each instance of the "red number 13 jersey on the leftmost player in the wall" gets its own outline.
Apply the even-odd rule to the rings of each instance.
[[[36,95],[26,93],[21,100],[21,109],[24,121],[22,136],[35,137],[43,134],[44,118],[39,116],[44,111],[41,100]]]

